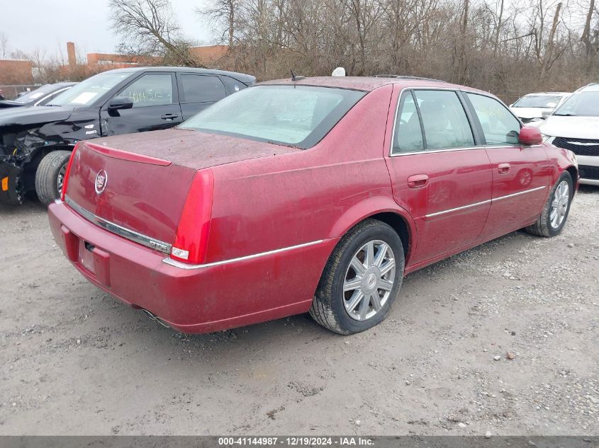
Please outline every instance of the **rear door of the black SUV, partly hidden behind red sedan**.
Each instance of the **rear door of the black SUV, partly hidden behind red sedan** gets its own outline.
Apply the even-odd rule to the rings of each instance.
[[[177,74],[181,92],[183,120],[196,115],[209,105],[225,98],[225,84],[216,75]]]

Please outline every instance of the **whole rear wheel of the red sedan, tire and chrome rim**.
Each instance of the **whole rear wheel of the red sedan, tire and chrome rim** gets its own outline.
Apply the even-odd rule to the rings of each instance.
[[[403,245],[396,231],[384,222],[366,219],[343,236],[330,255],[310,316],[342,335],[376,326],[396,299],[403,265]]]

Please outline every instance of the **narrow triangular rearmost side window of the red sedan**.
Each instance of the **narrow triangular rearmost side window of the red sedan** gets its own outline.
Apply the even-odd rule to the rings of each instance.
[[[399,112],[396,118],[391,154],[423,150],[422,127],[420,127],[420,118],[416,110],[416,103],[414,103],[412,92],[404,92],[401,96]]]

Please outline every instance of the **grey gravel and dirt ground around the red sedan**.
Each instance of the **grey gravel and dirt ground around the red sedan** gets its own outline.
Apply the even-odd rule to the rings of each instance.
[[[2,435],[599,435],[599,188],[559,237],[409,275],[349,337],[174,333],[86,282],[37,202],[0,217]]]

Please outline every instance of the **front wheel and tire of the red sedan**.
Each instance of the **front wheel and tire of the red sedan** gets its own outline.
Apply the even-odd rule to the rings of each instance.
[[[546,238],[559,235],[568,219],[573,195],[572,177],[568,171],[564,171],[549,192],[539,219],[525,230],[529,234]]]

